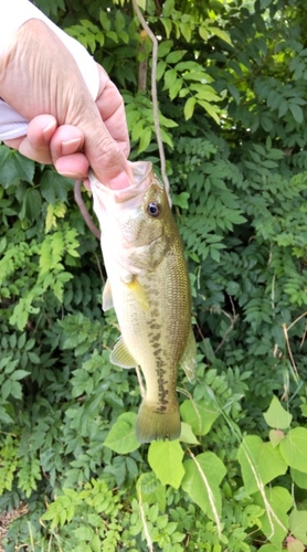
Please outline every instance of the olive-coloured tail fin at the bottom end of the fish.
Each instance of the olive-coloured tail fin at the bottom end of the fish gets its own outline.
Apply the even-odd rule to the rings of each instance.
[[[157,412],[146,399],[142,401],[136,422],[136,436],[139,443],[155,439],[178,439],[181,433],[179,408],[173,412]]]

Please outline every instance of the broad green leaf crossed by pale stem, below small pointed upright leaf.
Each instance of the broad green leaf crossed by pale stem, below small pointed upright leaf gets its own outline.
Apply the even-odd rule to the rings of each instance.
[[[256,435],[244,437],[239,447],[237,459],[242,469],[245,490],[248,495],[260,490],[275,477],[287,471],[287,464],[279,450],[264,443]]]

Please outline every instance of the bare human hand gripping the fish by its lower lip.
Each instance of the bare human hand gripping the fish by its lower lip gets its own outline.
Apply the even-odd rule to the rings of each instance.
[[[30,125],[27,137],[6,144],[39,162],[52,162],[61,174],[84,179],[91,166],[112,188],[129,185],[124,102],[106,72],[97,65],[100,85],[94,102],[74,59],[42,21],[27,22],[17,35],[0,57],[0,95]],[[33,44],[40,40],[43,51]]]

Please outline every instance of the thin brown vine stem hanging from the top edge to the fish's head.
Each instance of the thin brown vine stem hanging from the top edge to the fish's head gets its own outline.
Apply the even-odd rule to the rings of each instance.
[[[155,123],[155,130],[156,130],[156,137],[157,137],[157,144],[159,148],[159,157],[160,157],[160,162],[161,162],[161,174],[162,179],[165,181],[166,190],[169,194],[169,179],[167,176],[167,169],[166,169],[166,156],[165,156],[165,148],[163,148],[163,142],[161,138],[161,129],[160,129],[160,124],[159,124],[159,106],[158,106],[158,93],[157,93],[157,63],[158,63],[158,41],[152,33],[150,26],[147,24],[145,21],[145,18],[137,4],[136,0],[131,0],[134,10],[137,14],[137,18],[142,26],[142,29],[147,32],[149,39],[152,42],[152,57],[151,57],[151,99],[152,99],[152,109],[154,109],[154,123]]]

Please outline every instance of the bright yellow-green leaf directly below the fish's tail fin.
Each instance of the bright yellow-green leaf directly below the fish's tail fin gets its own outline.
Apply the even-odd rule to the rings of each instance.
[[[179,489],[184,469],[183,450],[179,440],[154,440],[148,449],[148,463],[162,485]]]

